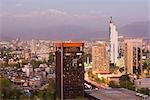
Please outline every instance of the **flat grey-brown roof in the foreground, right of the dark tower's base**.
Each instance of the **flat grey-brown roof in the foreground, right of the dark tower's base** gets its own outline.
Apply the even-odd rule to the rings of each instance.
[[[100,100],[141,100],[136,92],[123,88],[87,90],[86,93]]]

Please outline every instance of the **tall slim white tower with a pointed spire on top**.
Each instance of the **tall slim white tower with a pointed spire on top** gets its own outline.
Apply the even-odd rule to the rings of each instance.
[[[116,25],[112,22],[112,17],[109,23],[109,37],[110,37],[110,63],[116,64],[118,57],[118,31]]]

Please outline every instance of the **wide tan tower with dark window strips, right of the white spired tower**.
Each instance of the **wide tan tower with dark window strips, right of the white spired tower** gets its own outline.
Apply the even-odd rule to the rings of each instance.
[[[142,39],[126,39],[124,43],[127,74],[140,74],[142,71]]]

